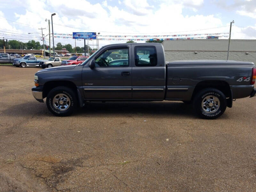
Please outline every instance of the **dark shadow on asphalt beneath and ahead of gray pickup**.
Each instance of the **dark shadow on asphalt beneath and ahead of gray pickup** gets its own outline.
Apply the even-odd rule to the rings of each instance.
[[[45,103],[27,102],[15,105],[3,110],[4,116],[54,116],[48,110]],[[86,102],[83,108],[77,108],[72,116],[90,116],[90,117],[116,117],[116,116],[187,116],[197,117],[193,111],[192,105],[183,102],[172,101],[154,101],[154,102]]]

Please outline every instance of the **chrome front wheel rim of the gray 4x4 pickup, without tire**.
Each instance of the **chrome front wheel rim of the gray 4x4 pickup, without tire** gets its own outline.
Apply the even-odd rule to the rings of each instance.
[[[52,104],[55,109],[65,111],[70,107],[71,102],[66,94],[60,93],[53,97]]]

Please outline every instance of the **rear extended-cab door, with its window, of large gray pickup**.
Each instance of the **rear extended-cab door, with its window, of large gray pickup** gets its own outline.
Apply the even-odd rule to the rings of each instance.
[[[132,99],[164,100],[165,60],[161,44],[132,44]]]

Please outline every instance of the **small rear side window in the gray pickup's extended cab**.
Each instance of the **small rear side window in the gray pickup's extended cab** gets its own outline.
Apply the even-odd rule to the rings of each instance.
[[[157,65],[156,48],[154,46],[136,46],[134,48],[135,66],[153,67]]]

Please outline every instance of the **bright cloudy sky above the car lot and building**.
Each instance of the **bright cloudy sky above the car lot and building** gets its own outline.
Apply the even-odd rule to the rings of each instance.
[[[0,4],[0,38],[23,42],[40,41],[42,35],[38,28],[41,27],[46,28],[43,30],[46,36],[49,26],[45,19],[51,21],[52,13],[56,13],[54,33],[60,34],[228,33],[230,22],[234,20],[231,39],[256,39],[256,0],[0,0]],[[45,39],[48,44],[49,35]],[[75,46],[74,39],[54,38],[55,46],[58,42]],[[125,42],[100,40],[99,44]],[[96,44],[96,41],[89,41],[89,44]],[[84,42],[76,41],[76,46],[82,47]]]

